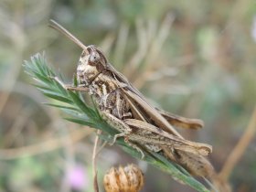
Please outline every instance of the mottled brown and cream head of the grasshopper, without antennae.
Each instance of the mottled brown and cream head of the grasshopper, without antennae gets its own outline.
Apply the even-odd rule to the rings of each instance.
[[[77,68],[77,77],[80,84],[90,84],[104,69],[106,69],[107,59],[101,50],[95,46],[88,46],[80,56]]]

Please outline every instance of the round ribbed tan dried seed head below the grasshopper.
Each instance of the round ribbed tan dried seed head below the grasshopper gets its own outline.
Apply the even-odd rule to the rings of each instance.
[[[138,192],[144,186],[144,175],[136,165],[112,167],[104,176],[106,192]]]

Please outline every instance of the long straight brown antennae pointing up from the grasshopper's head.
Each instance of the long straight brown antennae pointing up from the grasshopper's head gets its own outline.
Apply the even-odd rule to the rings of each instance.
[[[55,20],[50,19],[48,26],[59,31],[59,33],[65,35],[70,40],[72,40],[75,44],[77,44],[80,48],[82,48],[84,51],[88,52],[87,47],[83,45],[83,43],[80,42],[80,40],[77,37],[74,37],[71,33],[69,33],[69,31],[66,28],[60,26],[59,23],[57,23]]]

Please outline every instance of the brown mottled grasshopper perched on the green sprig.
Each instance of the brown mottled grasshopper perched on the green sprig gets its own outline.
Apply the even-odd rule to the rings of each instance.
[[[140,145],[164,153],[197,176],[211,174],[212,166],[204,157],[211,153],[211,146],[187,141],[174,128],[197,129],[203,126],[202,121],[187,119],[151,106],[144,95],[112,67],[99,48],[83,45],[53,20],[50,20],[50,27],[59,30],[83,49],[77,68],[79,86],[67,86],[58,78],[55,79],[67,90],[87,91],[93,96],[101,117],[119,131],[114,135],[113,143],[118,137],[124,137],[124,141],[143,157]]]

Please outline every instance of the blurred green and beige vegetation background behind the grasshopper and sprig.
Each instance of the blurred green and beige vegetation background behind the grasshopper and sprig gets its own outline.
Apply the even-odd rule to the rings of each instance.
[[[255,1],[1,0],[0,191],[92,191],[95,133],[43,105],[22,69],[45,51],[71,81],[81,50],[48,27],[50,18],[99,46],[155,106],[202,119],[203,130],[179,131],[212,144],[221,169],[256,101]],[[256,190],[255,156],[254,139],[230,176],[234,191]],[[98,157],[100,187],[107,169],[131,162],[144,170],[144,192],[194,191],[114,146]]]

